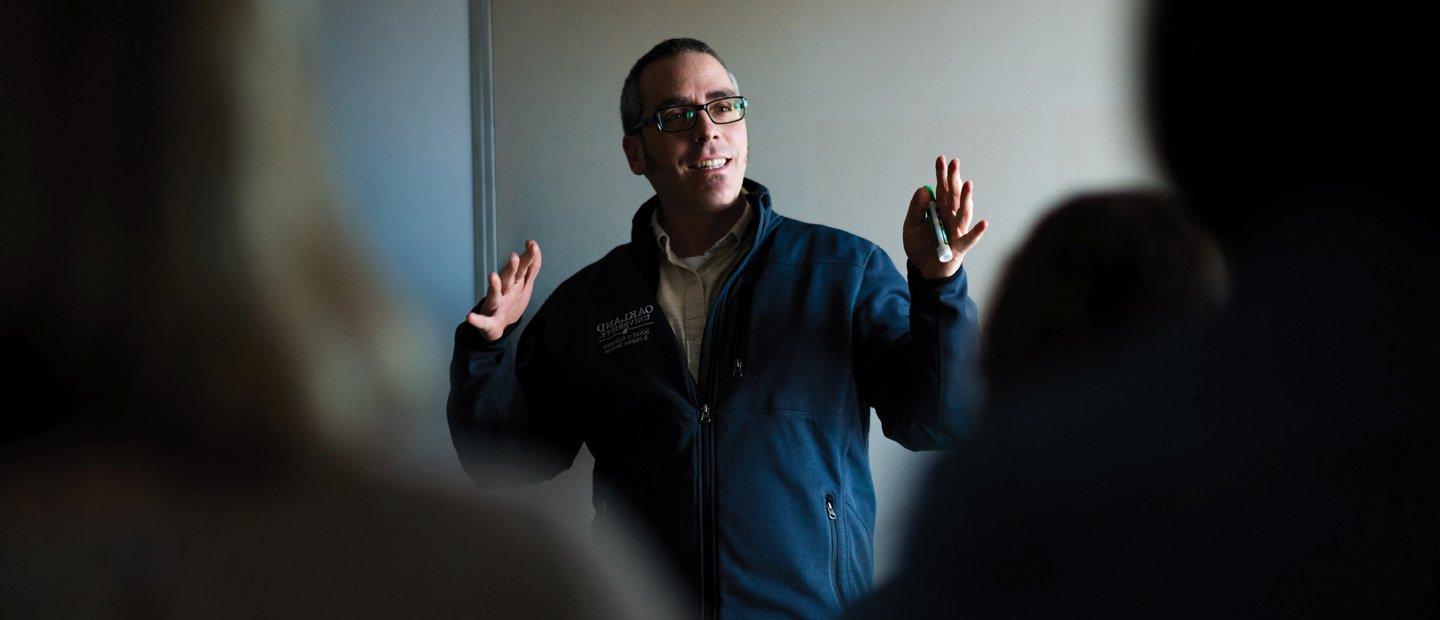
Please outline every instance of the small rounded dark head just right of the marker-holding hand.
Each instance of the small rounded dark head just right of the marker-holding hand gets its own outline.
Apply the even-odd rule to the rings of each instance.
[[[1123,329],[1202,319],[1224,295],[1220,250],[1169,196],[1079,196],[1041,219],[1011,257],[981,365],[1005,383]]]

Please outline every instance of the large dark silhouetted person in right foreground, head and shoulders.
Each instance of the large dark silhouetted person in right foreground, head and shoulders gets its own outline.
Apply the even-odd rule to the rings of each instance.
[[[1427,22],[1192,0],[1149,17],[1152,138],[1231,299],[996,394],[858,616],[1440,611]]]

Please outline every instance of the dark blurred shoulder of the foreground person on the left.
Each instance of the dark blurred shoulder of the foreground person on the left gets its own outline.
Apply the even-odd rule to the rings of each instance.
[[[0,608],[60,617],[651,614],[636,604],[645,594],[621,593],[592,550],[514,506],[334,470],[212,488],[131,473],[145,480],[144,499],[91,503],[105,515],[40,509],[0,519]],[[58,480],[66,478],[84,482]]]

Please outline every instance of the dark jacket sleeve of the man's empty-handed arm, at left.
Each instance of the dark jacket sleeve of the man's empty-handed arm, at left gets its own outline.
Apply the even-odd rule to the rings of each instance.
[[[446,401],[451,440],[465,472],[484,489],[523,486],[570,468],[583,434],[567,401],[562,357],[546,341],[544,308],[514,345],[516,325],[498,341],[475,327],[455,329]]]

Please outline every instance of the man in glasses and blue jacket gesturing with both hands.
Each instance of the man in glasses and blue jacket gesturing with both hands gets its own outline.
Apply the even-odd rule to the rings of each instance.
[[[972,186],[936,160],[942,263],[919,188],[909,286],[880,247],[775,213],[744,178],[744,112],[713,49],[671,39],[625,79],[622,147],[655,197],[632,239],[562,283],[507,354],[540,270],[511,255],[455,337],[449,423],[480,485],[595,455],[596,524],[628,511],[697,611],[834,616],[870,587],[870,407],[914,450],[971,419]]]

